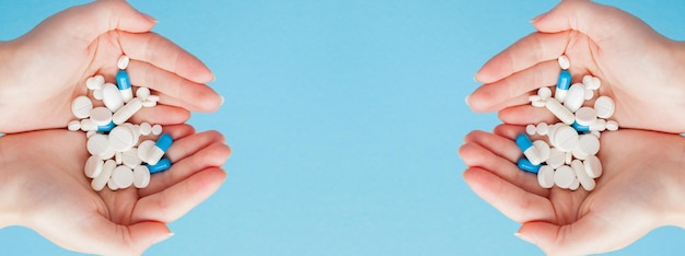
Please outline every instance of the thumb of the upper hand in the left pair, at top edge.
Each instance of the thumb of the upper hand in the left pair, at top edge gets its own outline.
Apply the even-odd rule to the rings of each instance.
[[[37,30],[81,38],[88,45],[108,31],[142,33],[156,21],[133,9],[126,1],[103,0],[73,7],[49,18]]]

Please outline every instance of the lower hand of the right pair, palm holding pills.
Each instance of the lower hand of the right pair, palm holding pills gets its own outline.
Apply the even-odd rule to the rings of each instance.
[[[483,199],[522,223],[516,233],[548,255],[587,255],[623,248],[649,231],[684,226],[683,149],[680,135],[623,129],[603,132],[603,174],[593,191],[543,189],[514,162],[523,127],[473,131],[460,154],[464,179]],[[657,149],[657,150],[649,150]]]

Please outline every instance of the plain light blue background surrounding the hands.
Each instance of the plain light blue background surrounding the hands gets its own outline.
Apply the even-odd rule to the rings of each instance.
[[[84,2],[2,0],[0,40]],[[499,123],[464,104],[476,70],[556,1],[130,2],[216,73],[225,104],[190,124],[233,149],[219,191],[146,255],[542,255],[471,191],[456,150]],[[685,38],[682,1],[601,2]],[[613,255],[683,241],[662,228]],[[0,249],[74,254],[16,226]]]

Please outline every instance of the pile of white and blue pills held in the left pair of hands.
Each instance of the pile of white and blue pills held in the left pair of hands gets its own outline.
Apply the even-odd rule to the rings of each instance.
[[[144,188],[150,184],[150,174],[171,167],[164,153],[173,140],[162,133],[162,126],[128,123],[142,107],[153,107],[159,101],[159,96],[150,95],[148,88],[138,88],[133,96],[126,72],[128,63],[127,56],[119,58],[117,84],[106,83],[100,74],[86,80],[93,98],[102,101],[104,106],[95,106],[85,95],[78,96],[71,104],[71,112],[79,119],[70,121],[67,128],[86,132],[91,156],[85,162],[84,174],[92,178],[91,187],[97,191],[105,186],[112,190],[131,185]],[[143,140],[156,136],[156,141]]]

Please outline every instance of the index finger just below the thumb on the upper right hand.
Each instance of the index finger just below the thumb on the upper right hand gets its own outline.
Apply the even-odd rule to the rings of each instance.
[[[569,33],[530,34],[488,60],[475,79],[494,83],[537,63],[556,60],[564,54],[568,40]]]

